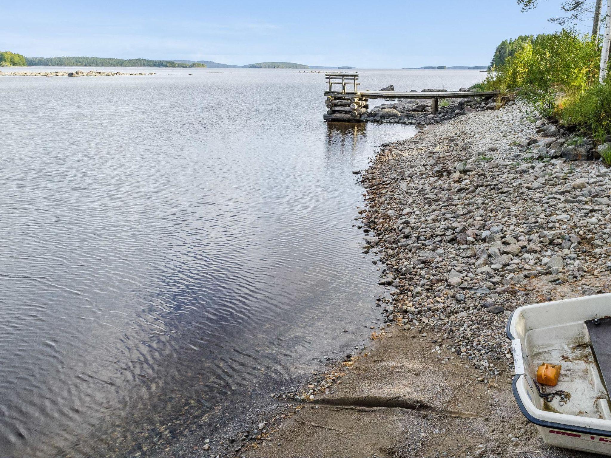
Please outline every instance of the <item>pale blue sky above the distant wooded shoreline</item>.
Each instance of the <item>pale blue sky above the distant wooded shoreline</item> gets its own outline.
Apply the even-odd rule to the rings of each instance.
[[[0,51],[29,57],[361,68],[485,65],[501,40],[554,31],[547,18],[561,14],[560,0],[542,1],[527,13],[515,0],[3,3]]]

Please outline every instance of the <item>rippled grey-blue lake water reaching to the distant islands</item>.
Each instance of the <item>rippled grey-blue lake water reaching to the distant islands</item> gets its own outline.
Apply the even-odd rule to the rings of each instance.
[[[321,73],[146,70],[0,77],[1,456],[133,456],[177,418],[206,437],[379,320],[351,172],[415,129],[324,123]]]

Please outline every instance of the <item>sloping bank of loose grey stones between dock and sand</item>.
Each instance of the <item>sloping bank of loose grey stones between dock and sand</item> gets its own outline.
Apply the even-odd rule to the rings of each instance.
[[[391,289],[383,327],[434,331],[495,375],[492,360],[511,364],[508,314],[534,280],[609,271],[609,169],[591,140],[561,130],[511,103],[382,145],[357,219]]]

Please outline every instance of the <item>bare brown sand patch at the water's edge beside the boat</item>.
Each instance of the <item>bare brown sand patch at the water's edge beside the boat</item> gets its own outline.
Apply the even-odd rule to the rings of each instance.
[[[585,457],[544,445],[511,393],[439,342],[399,331],[355,359],[334,393],[310,402],[245,457]],[[510,437],[517,437],[512,440]]]

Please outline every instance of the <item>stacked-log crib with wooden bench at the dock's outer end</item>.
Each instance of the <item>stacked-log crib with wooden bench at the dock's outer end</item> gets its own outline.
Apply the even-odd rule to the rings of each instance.
[[[340,122],[363,122],[367,118],[368,98],[358,90],[358,73],[325,73],[328,88],[324,93],[327,107],[323,119]],[[341,85],[335,90],[333,85]],[[346,89],[353,89],[349,91]]]

